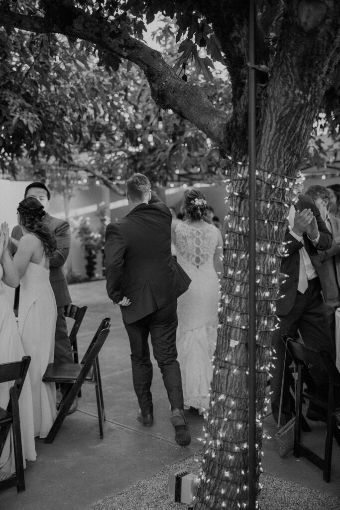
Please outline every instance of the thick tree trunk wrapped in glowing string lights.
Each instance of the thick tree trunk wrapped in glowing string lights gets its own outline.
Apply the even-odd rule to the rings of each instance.
[[[287,19],[282,40],[289,41]],[[286,37],[284,31],[287,32]],[[256,454],[260,489],[261,443],[271,363],[271,331],[275,327],[277,275],[283,253],[292,186],[321,104],[334,59],[320,43],[319,75],[310,72],[310,41],[277,58],[271,80],[259,97],[256,190]],[[338,34],[337,34],[338,37]],[[296,39],[295,39],[296,44]],[[309,45],[309,46],[308,46]],[[337,56],[339,48],[337,44]],[[294,55],[300,50],[300,55]],[[291,58],[289,57],[291,55]],[[328,60],[330,58],[330,60]],[[298,68],[297,68],[297,62]],[[235,144],[236,145],[236,144]],[[203,467],[195,510],[248,507],[248,180],[242,145],[234,146],[228,174],[230,213],[222,283],[211,399],[205,432]]]

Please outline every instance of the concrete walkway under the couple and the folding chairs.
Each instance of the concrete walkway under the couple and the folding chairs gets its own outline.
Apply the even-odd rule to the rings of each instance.
[[[119,307],[109,300],[104,281],[70,286],[75,304],[88,305],[79,332],[80,355],[103,317],[111,317],[111,332],[100,353],[107,421],[104,438],[99,438],[93,386],[83,386],[77,411],[66,418],[55,441],[36,440],[38,458],[25,470],[26,491],[15,488],[0,493],[1,510],[89,510],[107,496],[121,493],[137,481],[159,473],[166,466],[199,452],[203,419],[189,412],[192,443],[180,448],[174,441],[169,402],[160,370],[154,363],[152,394],[154,425],[143,427],[137,420],[138,404],[132,385],[129,345]],[[324,424],[313,424],[307,441],[322,449]],[[304,458],[293,455],[281,459],[275,451],[275,422],[265,420],[272,439],[263,444],[263,469],[278,478],[340,497],[340,449],[333,443],[331,482]],[[119,509],[117,509],[119,510]],[[273,509],[274,510],[274,509]]]

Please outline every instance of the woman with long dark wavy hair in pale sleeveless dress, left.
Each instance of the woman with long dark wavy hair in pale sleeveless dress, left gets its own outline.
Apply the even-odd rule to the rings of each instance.
[[[20,277],[19,334],[25,354],[32,358],[29,374],[34,434],[40,438],[47,436],[57,415],[56,385],[41,380],[47,365],[53,363],[57,320],[48,259],[56,249],[56,239],[41,222],[43,215],[43,206],[36,198],[26,197],[19,203],[18,223],[23,236],[15,243],[13,259]]]

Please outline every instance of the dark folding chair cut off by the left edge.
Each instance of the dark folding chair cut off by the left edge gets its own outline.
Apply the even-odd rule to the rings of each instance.
[[[30,356],[23,356],[21,361],[2,363],[0,365],[0,383],[14,381],[10,389],[7,409],[0,407],[0,455],[4,449],[7,436],[12,426],[15,473],[0,481],[0,490],[16,485],[17,491],[25,490],[23,474],[22,443],[20,430],[19,396],[31,363]]]

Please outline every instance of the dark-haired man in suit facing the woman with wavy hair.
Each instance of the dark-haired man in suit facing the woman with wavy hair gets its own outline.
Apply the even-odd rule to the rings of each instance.
[[[45,215],[42,222],[54,232],[57,240],[57,249],[54,256],[49,259],[49,281],[53,289],[58,309],[56,335],[55,335],[55,363],[73,363],[73,354],[70,340],[68,338],[67,324],[65,319],[64,307],[70,304],[71,296],[68,292],[63,265],[66,262],[71,245],[70,226],[67,221],[55,218],[48,214],[50,193],[43,183],[35,182],[29,184],[25,189],[25,197],[33,196],[39,200],[44,207]],[[12,231],[12,246],[15,251],[15,240],[19,240],[22,236],[22,230],[19,225],[15,226]],[[62,393],[67,386],[61,385]],[[76,410],[75,405],[72,406],[71,412]]]

